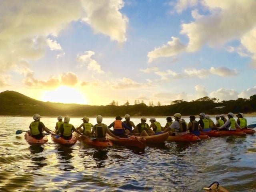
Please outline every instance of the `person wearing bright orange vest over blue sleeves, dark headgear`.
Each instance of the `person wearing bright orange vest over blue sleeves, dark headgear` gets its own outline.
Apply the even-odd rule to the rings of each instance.
[[[108,128],[113,127],[114,128],[114,134],[116,136],[124,136],[125,134],[128,134],[129,132],[132,132],[132,129],[130,127],[128,127],[124,122],[121,121],[122,117],[120,116],[116,116],[116,120],[114,122],[112,122]],[[125,132],[125,130],[128,130],[127,132]]]

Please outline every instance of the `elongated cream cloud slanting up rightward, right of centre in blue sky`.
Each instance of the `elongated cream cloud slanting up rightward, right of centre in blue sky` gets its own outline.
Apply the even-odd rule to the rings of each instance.
[[[167,42],[160,48],[155,48],[153,51],[148,52],[148,62],[160,57],[176,56],[180,52],[184,51],[186,46],[180,42],[179,38],[172,37],[172,40]]]

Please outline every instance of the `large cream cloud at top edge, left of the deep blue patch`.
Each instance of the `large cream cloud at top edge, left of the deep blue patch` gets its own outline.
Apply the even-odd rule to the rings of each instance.
[[[122,43],[126,41],[126,26],[128,18],[119,11],[123,6],[122,0],[82,0],[86,12],[83,21],[93,30],[110,36],[112,40]]]

